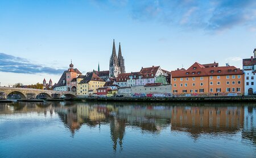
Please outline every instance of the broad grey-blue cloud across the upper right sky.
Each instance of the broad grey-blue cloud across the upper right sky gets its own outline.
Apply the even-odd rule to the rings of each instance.
[[[224,31],[256,24],[255,0],[94,1],[104,6],[126,7],[134,20],[154,20],[183,28]]]

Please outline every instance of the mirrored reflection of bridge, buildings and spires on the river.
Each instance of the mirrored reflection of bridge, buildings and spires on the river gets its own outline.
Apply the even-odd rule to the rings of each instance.
[[[193,139],[202,134],[242,133],[242,139],[256,144],[256,109],[236,103],[96,103],[96,102],[19,102],[1,103],[0,116],[43,113],[57,114],[75,137],[82,126],[101,128],[108,124],[113,150],[123,149],[126,127],[154,135],[164,129],[187,132]]]

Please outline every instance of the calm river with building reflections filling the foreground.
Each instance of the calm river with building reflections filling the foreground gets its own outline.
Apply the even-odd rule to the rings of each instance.
[[[0,103],[0,157],[256,157],[256,103]]]

